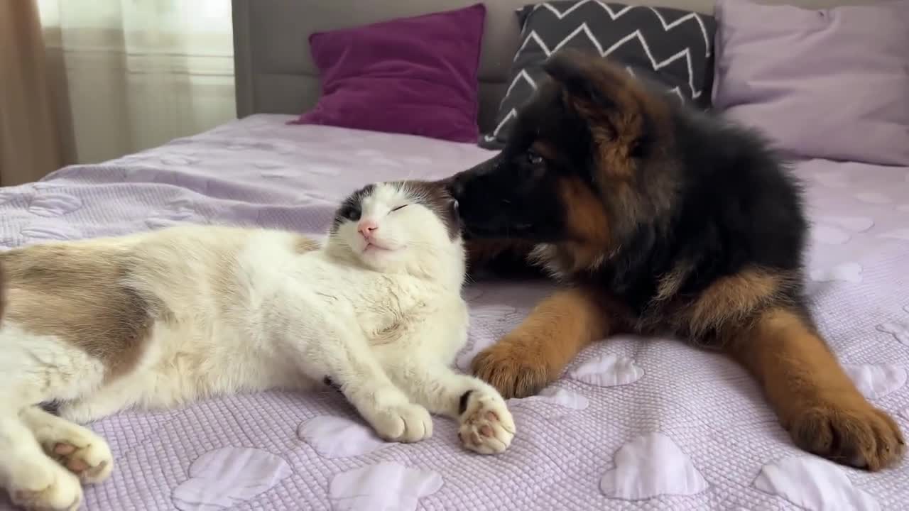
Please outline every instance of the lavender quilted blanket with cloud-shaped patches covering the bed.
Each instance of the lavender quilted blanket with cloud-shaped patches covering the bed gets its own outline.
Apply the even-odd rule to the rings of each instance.
[[[177,222],[319,234],[366,182],[438,177],[474,145],[254,115],[102,165],[0,189],[6,247]],[[814,311],[849,374],[909,431],[909,169],[805,161]],[[468,286],[465,367],[515,326],[545,284]],[[672,339],[592,346],[540,396],[510,401],[502,456],[459,446],[435,419],[420,444],[385,443],[332,393],[270,392],[125,412],[90,425],[115,473],[89,510],[904,509],[909,462],[869,474],[794,448],[744,371]],[[0,497],[0,509],[8,503]]]

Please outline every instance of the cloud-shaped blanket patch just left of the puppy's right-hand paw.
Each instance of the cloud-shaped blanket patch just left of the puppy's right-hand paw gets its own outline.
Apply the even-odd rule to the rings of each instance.
[[[688,455],[669,436],[649,433],[619,448],[615,468],[600,479],[600,491],[610,498],[640,500],[662,495],[695,495],[707,481]]]

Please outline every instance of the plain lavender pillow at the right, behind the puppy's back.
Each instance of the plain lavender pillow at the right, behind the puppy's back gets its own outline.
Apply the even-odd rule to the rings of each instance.
[[[909,165],[909,2],[715,16],[715,107],[788,155]]]

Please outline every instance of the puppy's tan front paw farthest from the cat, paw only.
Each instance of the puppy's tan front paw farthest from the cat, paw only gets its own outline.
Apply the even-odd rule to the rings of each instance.
[[[789,433],[808,452],[871,471],[894,465],[905,449],[894,419],[860,396],[804,408],[790,421]]]

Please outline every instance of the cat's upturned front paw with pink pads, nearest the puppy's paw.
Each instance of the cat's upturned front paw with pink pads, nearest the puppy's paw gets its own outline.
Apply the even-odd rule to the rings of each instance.
[[[490,390],[469,390],[461,397],[464,411],[458,436],[468,449],[483,455],[503,452],[514,438],[514,418],[502,396]]]

